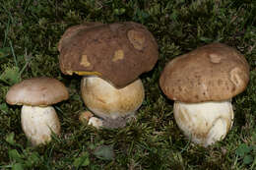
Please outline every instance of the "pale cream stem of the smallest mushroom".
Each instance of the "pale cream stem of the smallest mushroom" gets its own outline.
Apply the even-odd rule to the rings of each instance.
[[[52,106],[39,107],[24,105],[22,128],[32,145],[50,142],[51,134],[60,134],[58,116]]]

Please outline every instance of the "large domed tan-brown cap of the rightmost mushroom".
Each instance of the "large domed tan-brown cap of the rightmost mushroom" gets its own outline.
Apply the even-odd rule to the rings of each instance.
[[[246,59],[222,43],[176,57],[160,76],[160,87],[168,98],[188,103],[230,99],[242,92],[248,82]]]

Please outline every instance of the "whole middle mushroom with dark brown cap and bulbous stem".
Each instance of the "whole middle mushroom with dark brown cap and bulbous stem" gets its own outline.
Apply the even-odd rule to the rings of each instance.
[[[142,73],[158,61],[152,33],[133,22],[86,23],[68,28],[58,45],[62,73],[85,76],[85,104],[107,128],[122,127],[144,100]],[[124,120],[124,121],[122,121]]]

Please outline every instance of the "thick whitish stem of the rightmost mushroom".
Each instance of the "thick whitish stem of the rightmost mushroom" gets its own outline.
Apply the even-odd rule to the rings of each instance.
[[[192,142],[208,146],[224,139],[233,123],[231,102],[174,102],[178,127]]]

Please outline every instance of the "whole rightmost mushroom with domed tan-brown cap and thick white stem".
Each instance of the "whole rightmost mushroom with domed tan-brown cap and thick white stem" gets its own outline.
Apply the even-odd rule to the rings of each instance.
[[[174,102],[178,127],[192,142],[210,145],[224,139],[233,122],[231,98],[249,82],[242,54],[212,43],[166,64],[160,75],[163,93]]]

